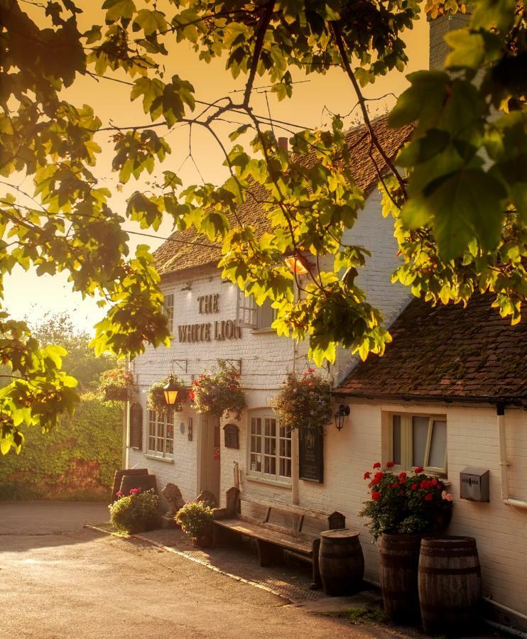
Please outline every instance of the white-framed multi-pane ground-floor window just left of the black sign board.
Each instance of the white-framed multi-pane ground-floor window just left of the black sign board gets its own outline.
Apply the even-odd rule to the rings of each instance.
[[[249,471],[253,476],[290,481],[291,433],[273,415],[249,417]]]

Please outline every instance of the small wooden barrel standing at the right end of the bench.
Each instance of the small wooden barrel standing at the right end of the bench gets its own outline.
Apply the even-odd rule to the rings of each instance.
[[[326,594],[352,594],[362,587],[364,555],[359,532],[342,528],[320,533],[320,577]]]

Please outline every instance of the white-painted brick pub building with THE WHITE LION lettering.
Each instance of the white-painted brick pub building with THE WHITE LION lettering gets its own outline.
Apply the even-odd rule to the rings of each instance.
[[[438,18],[433,25],[432,61],[451,22]],[[409,131],[391,131],[386,118],[375,126],[393,158]],[[281,428],[269,402],[286,373],[310,366],[307,346],[278,337],[270,329],[271,307],[257,307],[223,281],[217,249],[188,230],[155,253],[174,339],[132,365],[143,429],[129,434],[127,467],[148,468],[160,488],[176,484],[185,501],[207,490],[224,506],[226,491],[238,483],[246,495],[337,510],[363,531],[365,577],[379,581],[379,550],[358,516],[367,498],[364,471],[374,461],[393,460],[401,470],[425,466],[450,484],[455,506],[447,532],[477,540],[485,601],[502,619],[527,628],[527,322],[512,327],[486,296],[467,309],[430,307],[391,284],[398,263],[393,222],[381,215],[364,129],[351,131],[349,144],[367,200],[345,239],[371,251],[359,286],[383,313],[393,342],[384,357],[362,364],[339,351],[324,371],[335,388],[335,410],[350,409],[342,430],[327,425],[315,465],[298,464],[298,440]],[[240,213],[257,229],[266,224],[259,209]],[[202,244],[182,242],[192,240]],[[197,414],[190,402],[170,417],[148,411],[152,383],[175,373],[190,388],[218,360],[240,373],[247,409],[239,421]],[[488,471],[483,501],[461,497],[466,468]]]

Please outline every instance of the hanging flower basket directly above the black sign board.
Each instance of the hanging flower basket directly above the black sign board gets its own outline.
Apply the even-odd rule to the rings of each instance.
[[[310,428],[324,432],[332,418],[331,384],[314,368],[300,376],[288,373],[271,406],[286,430]]]

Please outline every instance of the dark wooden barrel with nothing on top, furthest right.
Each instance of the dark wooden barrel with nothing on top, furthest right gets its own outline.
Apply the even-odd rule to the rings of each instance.
[[[419,555],[419,602],[425,632],[461,635],[473,629],[481,597],[476,540],[423,539]]]

